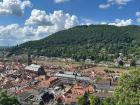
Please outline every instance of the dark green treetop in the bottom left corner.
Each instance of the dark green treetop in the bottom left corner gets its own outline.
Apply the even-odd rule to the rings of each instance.
[[[8,95],[7,92],[0,93],[0,105],[21,105],[16,97]]]

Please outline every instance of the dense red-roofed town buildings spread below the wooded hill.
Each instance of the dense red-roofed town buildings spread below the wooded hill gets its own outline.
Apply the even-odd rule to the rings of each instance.
[[[41,58],[43,59],[43,58]],[[23,105],[76,104],[85,93],[111,97],[121,73],[107,72],[89,60],[86,65],[64,68],[58,65],[28,65],[0,61],[0,88],[13,92]],[[100,78],[100,81],[96,81]]]

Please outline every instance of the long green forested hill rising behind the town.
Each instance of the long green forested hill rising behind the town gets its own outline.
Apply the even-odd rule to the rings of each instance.
[[[109,25],[77,26],[38,41],[15,46],[12,54],[30,52],[48,57],[113,60],[119,53],[140,57],[140,26]]]

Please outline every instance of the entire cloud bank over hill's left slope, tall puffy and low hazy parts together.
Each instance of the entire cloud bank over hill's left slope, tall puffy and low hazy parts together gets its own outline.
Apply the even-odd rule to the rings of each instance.
[[[0,26],[0,45],[16,45],[29,40],[38,40],[60,30],[68,29],[78,25],[78,18],[75,15],[54,11],[48,15],[44,11],[36,11],[26,21],[25,26],[11,24]],[[38,15],[38,16],[37,16]],[[35,18],[36,17],[36,18]],[[48,17],[48,18],[46,18]],[[51,25],[49,23],[52,23]],[[36,26],[34,26],[36,25]]]

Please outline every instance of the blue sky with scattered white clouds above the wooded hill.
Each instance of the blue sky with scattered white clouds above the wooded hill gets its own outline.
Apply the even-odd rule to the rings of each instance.
[[[91,24],[140,25],[140,0],[0,0],[0,46]]]

